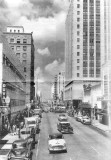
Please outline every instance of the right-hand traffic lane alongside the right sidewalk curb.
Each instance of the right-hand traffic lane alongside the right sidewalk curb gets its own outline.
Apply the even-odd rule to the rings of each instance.
[[[92,150],[101,155],[104,160],[111,159],[111,140],[108,137],[98,133],[97,130],[94,130],[91,126],[83,125],[75,121],[74,118],[69,118],[69,121],[74,128],[74,133],[89,143]]]

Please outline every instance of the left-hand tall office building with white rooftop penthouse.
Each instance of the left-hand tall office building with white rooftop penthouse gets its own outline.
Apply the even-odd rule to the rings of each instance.
[[[34,100],[34,41],[32,33],[25,33],[22,26],[8,26],[4,32],[8,43],[24,66],[26,77],[26,103]]]

